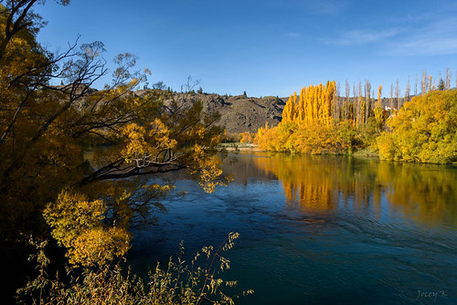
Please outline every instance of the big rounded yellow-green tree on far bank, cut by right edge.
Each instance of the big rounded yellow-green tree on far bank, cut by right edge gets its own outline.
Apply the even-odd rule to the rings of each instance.
[[[382,159],[420,163],[457,161],[457,90],[434,90],[405,103],[377,138]]]

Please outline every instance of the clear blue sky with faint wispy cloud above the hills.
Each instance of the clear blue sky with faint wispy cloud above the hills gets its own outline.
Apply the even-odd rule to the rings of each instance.
[[[62,50],[100,40],[112,67],[137,55],[149,82],[179,90],[189,75],[207,92],[289,96],[303,86],[369,79],[376,90],[424,69],[457,72],[456,0],[73,0],[37,6],[48,21],[38,40]],[[105,79],[106,82],[109,79]],[[99,84],[101,87],[101,84]],[[351,93],[352,94],[352,93]]]

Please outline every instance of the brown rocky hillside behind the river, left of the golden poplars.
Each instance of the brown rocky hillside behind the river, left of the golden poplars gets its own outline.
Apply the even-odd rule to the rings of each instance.
[[[143,90],[136,92],[141,95]],[[278,125],[282,120],[282,109],[285,99],[276,97],[249,98],[243,95],[228,97],[218,94],[173,93],[173,99],[182,103],[193,103],[197,100],[203,104],[208,113],[218,111],[221,115],[219,126],[224,126],[228,133],[244,131],[257,132],[265,122]],[[170,100],[165,100],[166,103]]]

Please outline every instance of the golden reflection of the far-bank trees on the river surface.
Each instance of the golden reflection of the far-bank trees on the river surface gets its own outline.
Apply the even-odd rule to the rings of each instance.
[[[308,212],[387,209],[427,225],[457,220],[455,168],[284,153],[253,160],[282,181],[288,205]]]

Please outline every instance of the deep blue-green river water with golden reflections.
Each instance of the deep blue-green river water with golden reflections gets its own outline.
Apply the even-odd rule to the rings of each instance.
[[[373,159],[233,154],[207,195],[186,175],[134,230],[135,272],[239,232],[224,279],[237,304],[457,304],[457,168]]]

